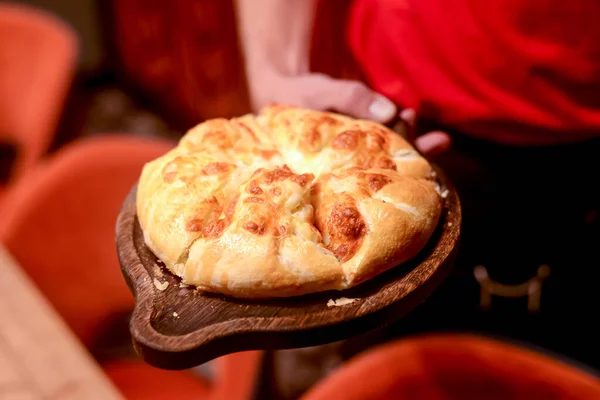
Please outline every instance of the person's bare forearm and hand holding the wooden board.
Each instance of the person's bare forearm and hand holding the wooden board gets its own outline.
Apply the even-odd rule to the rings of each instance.
[[[310,72],[310,45],[317,0],[236,0],[241,49],[254,111],[272,103],[331,110],[387,124],[398,119],[393,102],[361,82]],[[414,125],[405,110],[400,119]],[[414,126],[403,131],[416,132]],[[432,132],[407,135],[419,151],[433,156],[450,138]]]

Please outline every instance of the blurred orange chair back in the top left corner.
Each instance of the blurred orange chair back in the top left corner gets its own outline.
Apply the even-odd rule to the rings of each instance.
[[[78,52],[75,31],[57,17],[0,4],[0,145],[16,150],[9,181],[51,144]]]

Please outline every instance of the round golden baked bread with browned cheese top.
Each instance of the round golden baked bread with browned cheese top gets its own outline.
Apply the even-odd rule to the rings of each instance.
[[[144,166],[137,190],[166,267],[240,298],[358,285],[414,257],[441,210],[430,164],[401,136],[280,105],[199,124]]]

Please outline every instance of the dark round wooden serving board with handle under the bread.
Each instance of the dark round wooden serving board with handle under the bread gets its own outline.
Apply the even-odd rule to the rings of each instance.
[[[325,344],[396,321],[437,288],[458,248],[460,201],[439,170],[438,176],[448,190],[444,213],[416,258],[343,292],[260,301],[180,287],[180,280],[144,244],[136,216],[136,187],[132,188],[117,221],[117,249],[136,297],[130,324],[136,351],[157,367],[184,369],[238,351]],[[167,288],[159,290],[154,279],[168,282]],[[327,306],[329,299],[340,297],[358,300],[343,307]]]

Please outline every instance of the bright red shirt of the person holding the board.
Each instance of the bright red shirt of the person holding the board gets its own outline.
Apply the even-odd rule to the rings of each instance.
[[[509,144],[600,132],[597,0],[355,0],[348,38],[401,106]]]

